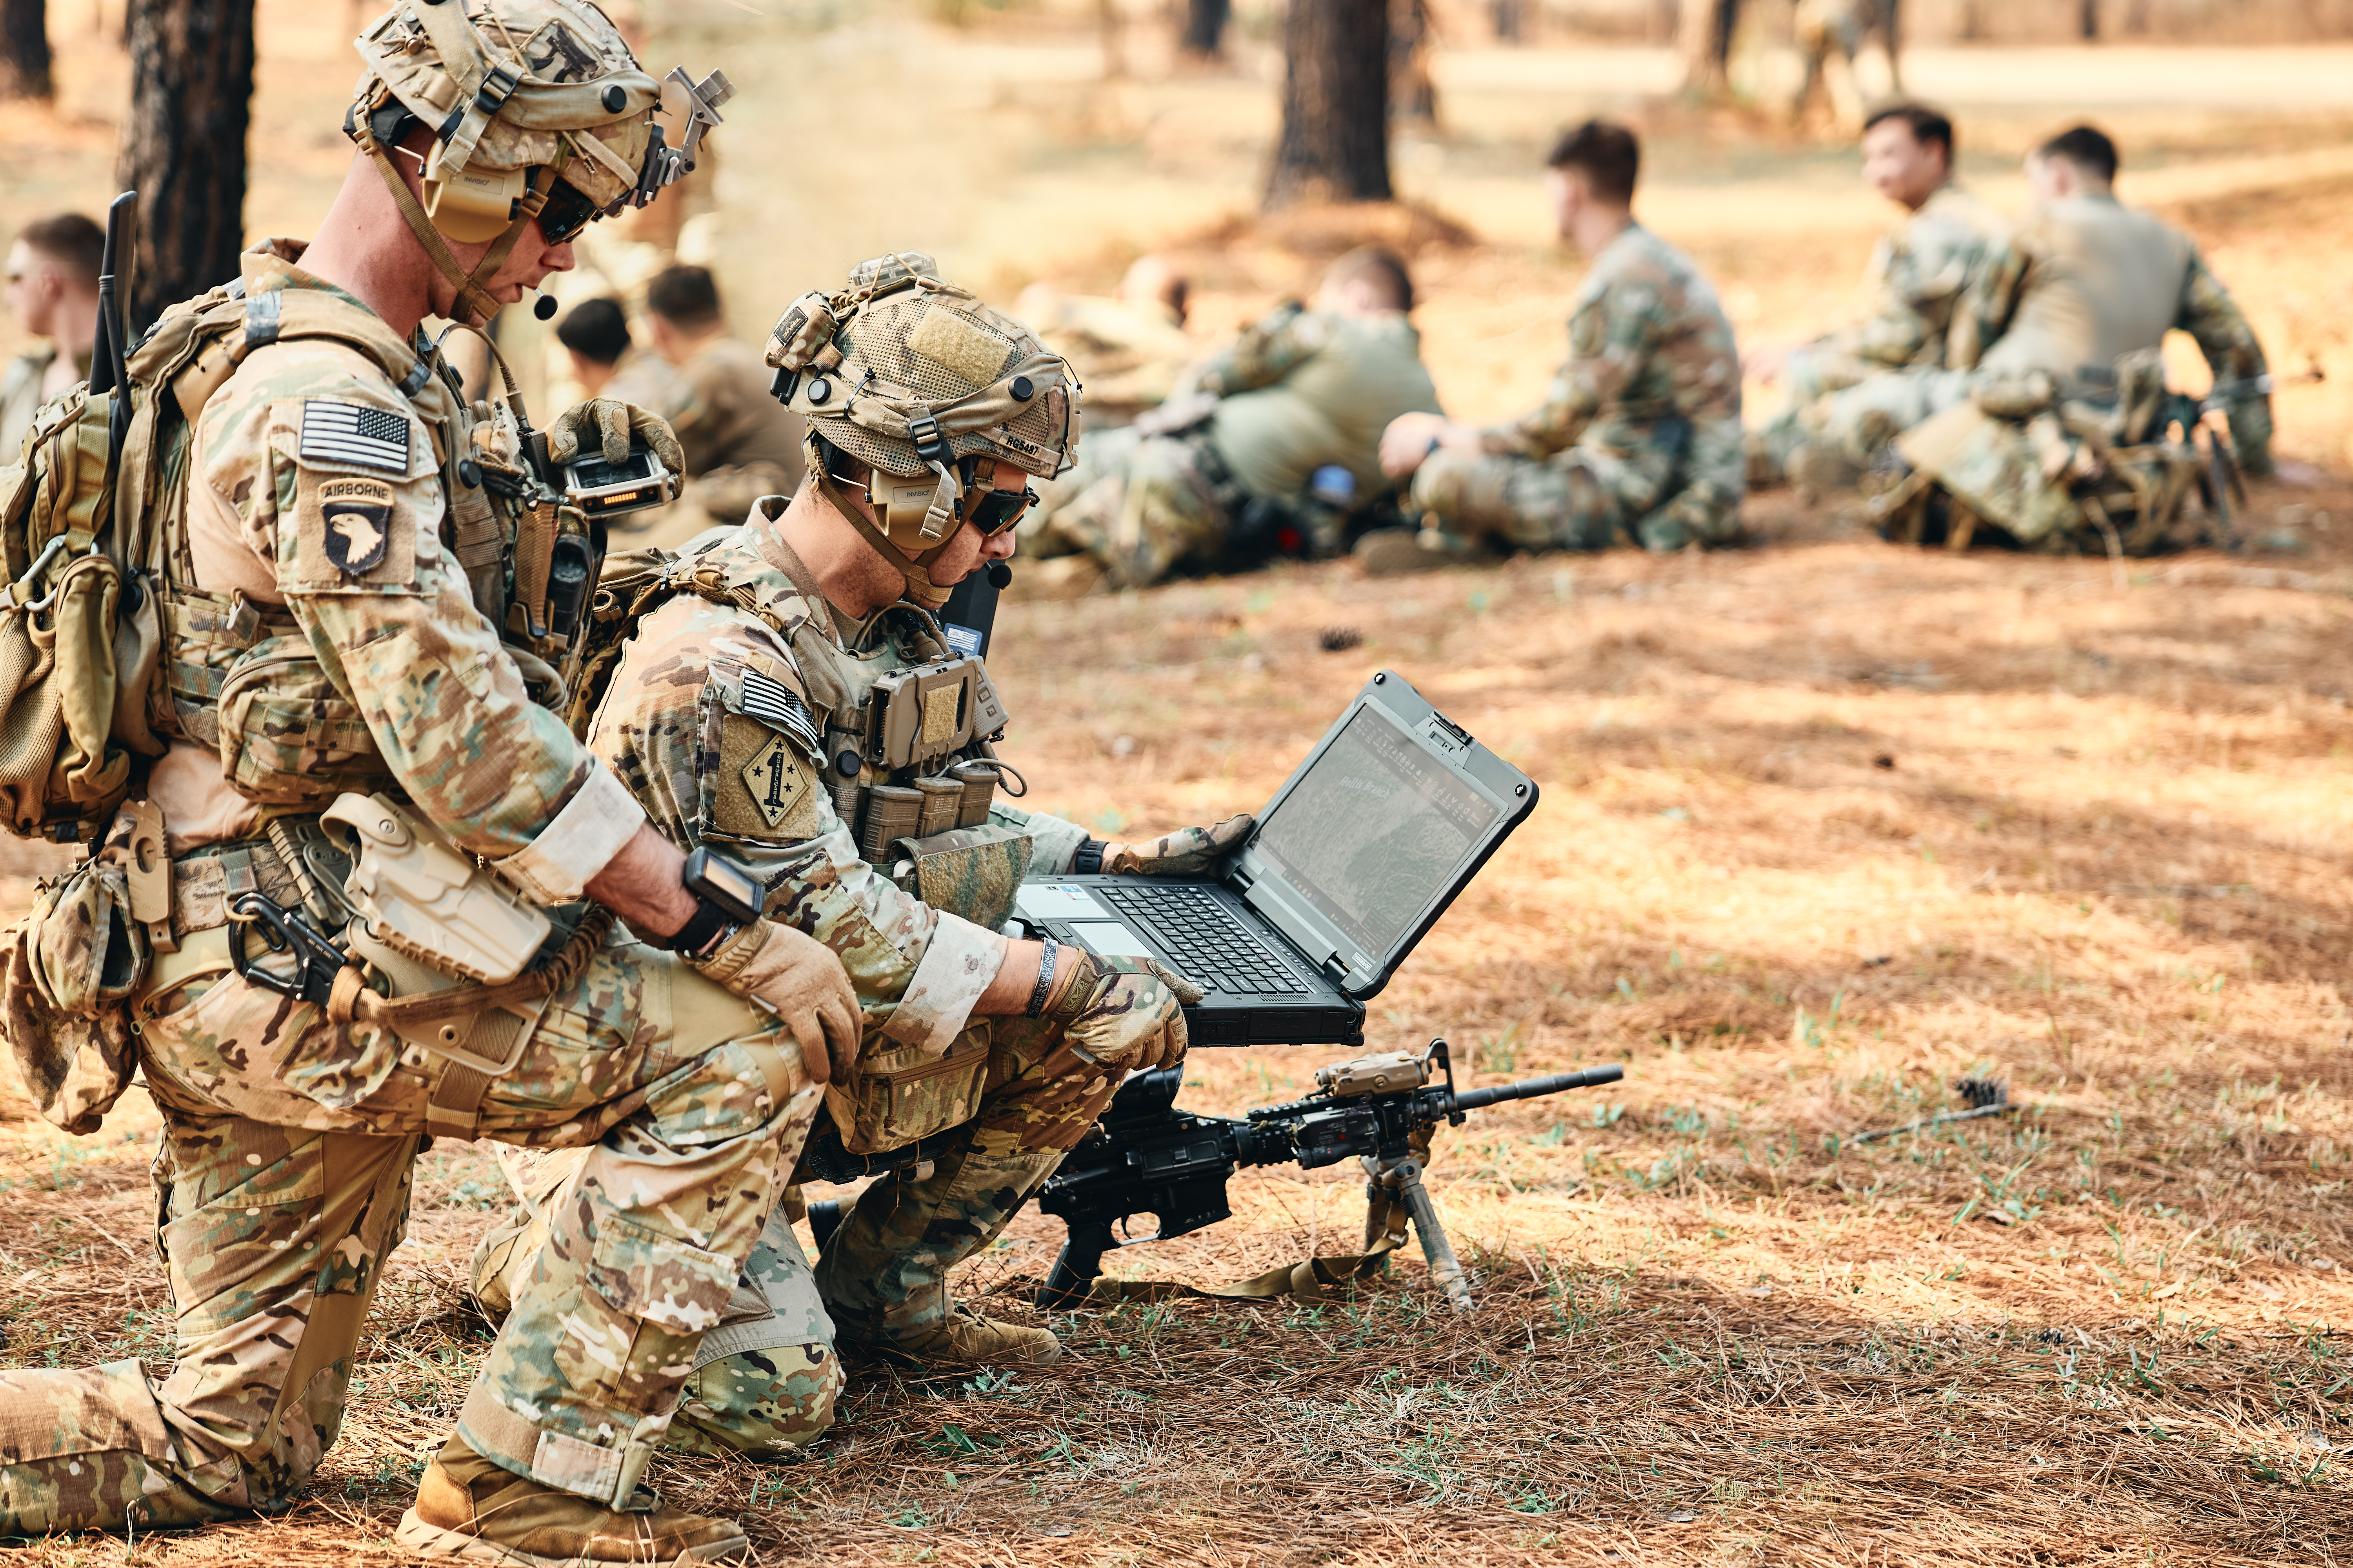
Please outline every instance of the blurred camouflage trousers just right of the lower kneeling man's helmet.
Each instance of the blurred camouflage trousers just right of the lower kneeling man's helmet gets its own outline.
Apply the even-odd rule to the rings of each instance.
[[[1040,487],[1021,522],[1021,555],[1092,555],[1113,588],[1144,588],[1179,562],[1217,562],[1235,503],[1207,425],[1181,435],[1089,430],[1078,465]]]

